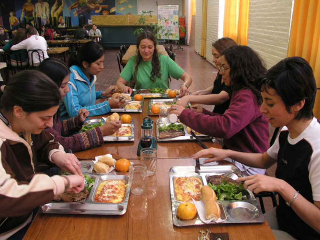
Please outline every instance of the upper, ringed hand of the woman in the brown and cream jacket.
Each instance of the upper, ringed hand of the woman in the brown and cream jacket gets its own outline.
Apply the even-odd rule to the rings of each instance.
[[[83,177],[83,174],[80,169],[81,164],[74,154],[58,151],[52,154],[51,160],[62,170],[70,172],[72,174],[79,174]]]

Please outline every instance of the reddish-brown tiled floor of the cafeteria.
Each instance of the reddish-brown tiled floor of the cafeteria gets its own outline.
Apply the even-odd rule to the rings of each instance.
[[[191,47],[183,45],[183,50],[176,50],[176,63],[180,65],[188,74],[191,75],[193,82],[189,90],[195,92],[197,90],[205,89],[213,84],[213,81],[218,73],[216,68],[205,60],[203,57],[198,55]],[[175,48],[175,47],[174,47]],[[173,49],[174,49],[173,48]],[[104,69],[97,76],[96,89],[105,90],[110,85],[115,85],[119,77],[119,68],[116,58],[116,54],[119,49],[106,49]],[[177,81],[172,79],[170,88],[179,89],[183,83],[182,80]],[[205,106],[206,109],[213,109],[213,106]],[[275,176],[276,166],[272,166],[267,169],[268,176]],[[263,199],[266,211],[273,208],[272,201],[270,198],[265,197]]]

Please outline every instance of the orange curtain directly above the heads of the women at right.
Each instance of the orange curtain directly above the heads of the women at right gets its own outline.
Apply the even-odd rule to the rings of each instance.
[[[223,36],[248,44],[250,0],[225,0]]]

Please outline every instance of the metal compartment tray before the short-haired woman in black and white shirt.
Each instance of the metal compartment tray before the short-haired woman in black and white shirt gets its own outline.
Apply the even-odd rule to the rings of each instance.
[[[174,194],[173,179],[176,177],[190,177],[196,176],[201,178],[203,185],[208,185],[206,177],[208,175],[220,175],[228,173],[232,179],[237,179],[241,176],[241,172],[234,165],[217,165],[217,166],[200,166],[200,172],[195,172],[195,166],[174,166],[169,171],[169,182],[170,182],[170,195],[172,204],[172,221],[175,226],[193,226],[206,224],[200,220],[197,215],[192,220],[180,220],[177,216],[177,208],[180,205],[180,201],[176,200]],[[264,222],[265,218],[262,214],[260,205],[253,193],[249,191],[250,197],[248,199],[243,198],[242,200],[232,201],[218,201],[221,210],[220,219],[224,220],[219,224],[227,223],[253,223],[253,222]],[[200,200],[202,201],[202,200]],[[218,224],[211,222],[209,224]]]

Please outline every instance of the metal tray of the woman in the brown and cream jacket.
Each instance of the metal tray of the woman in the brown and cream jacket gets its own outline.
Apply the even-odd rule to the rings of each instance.
[[[124,179],[128,184],[128,176],[125,175],[94,175],[95,181],[89,197],[80,202],[51,202],[40,207],[43,213],[62,214],[94,214],[94,215],[123,215],[127,211],[130,188],[126,188],[124,201],[121,203],[97,203],[93,201],[99,184],[105,180]]]

